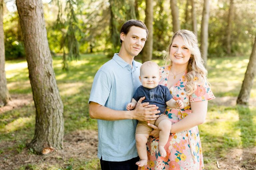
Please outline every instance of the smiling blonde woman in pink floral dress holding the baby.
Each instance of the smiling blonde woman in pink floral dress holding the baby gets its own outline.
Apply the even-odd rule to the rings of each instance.
[[[168,46],[165,58],[169,65],[160,68],[160,83],[169,88],[175,100],[182,100],[184,109],[168,109],[165,114],[172,122],[171,135],[165,150],[166,157],[158,152],[159,130],[151,132],[147,143],[148,164],[139,169],[149,170],[203,170],[203,155],[197,125],[204,123],[208,100],[214,99],[207,82],[196,36],[188,30],[179,30]]]

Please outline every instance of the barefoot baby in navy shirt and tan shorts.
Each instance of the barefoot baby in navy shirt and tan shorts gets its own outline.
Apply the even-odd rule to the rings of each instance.
[[[166,151],[164,149],[165,144],[168,141],[172,123],[169,118],[164,114],[166,110],[166,106],[170,108],[180,108],[184,107],[183,102],[181,100],[173,100],[170,94],[169,89],[166,86],[158,85],[160,81],[159,75],[159,66],[152,62],[147,61],[143,63],[140,67],[140,82],[142,86],[138,87],[136,90],[131,103],[126,106],[127,110],[132,110],[135,108],[137,101],[145,96],[144,102],[149,102],[150,104],[158,106],[158,110],[161,112],[156,121],[150,121],[151,124],[158,126],[159,132],[159,144],[158,150],[162,157],[166,156]],[[136,132],[136,147],[140,157],[140,161],[136,162],[136,165],[142,167],[147,165],[148,157],[147,157],[147,148],[146,143],[149,137],[150,132],[153,130],[150,128],[147,123],[139,121]]]

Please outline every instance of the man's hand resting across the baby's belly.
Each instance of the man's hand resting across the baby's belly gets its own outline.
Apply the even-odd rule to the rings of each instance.
[[[156,105],[150,105],[149,102],[141,103],[142,100],[144,100],[145,97],[140,98],[138,101],[134,113],[133,113],[133,119],[136,119],[138,121],[155,121],[159,115],[155,115],[160,113],[158,107]]]

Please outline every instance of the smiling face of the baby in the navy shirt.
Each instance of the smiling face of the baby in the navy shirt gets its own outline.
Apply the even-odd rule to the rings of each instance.
[[[141,70],[141,74],[139,78],[143,87],[146,87],[148,89],[153,89],[158,85],[160,80],[159,68],[148,67],[148,66],[144,67]]]

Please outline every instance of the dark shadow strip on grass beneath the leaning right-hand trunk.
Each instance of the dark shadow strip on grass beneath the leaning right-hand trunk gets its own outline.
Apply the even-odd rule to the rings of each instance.
[[[255,145],[256,125],[253,123],[253,114],[248,106],[237,107],[239,113],[239,125],[241,129],[242,147]]]

